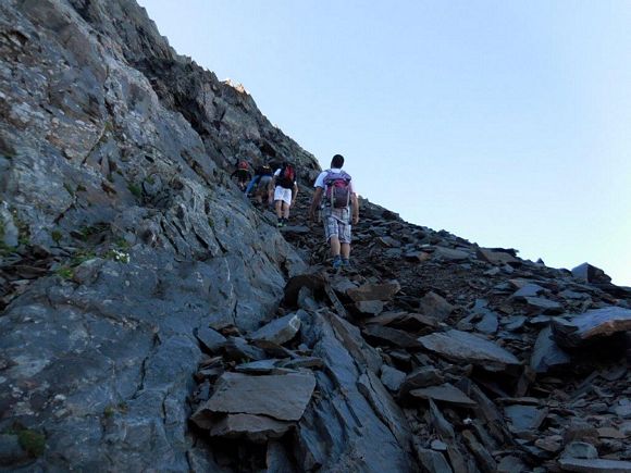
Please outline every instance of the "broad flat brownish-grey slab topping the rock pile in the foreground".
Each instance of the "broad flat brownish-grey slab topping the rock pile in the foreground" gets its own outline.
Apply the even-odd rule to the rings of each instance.
[[[201,409],[297,421],[302,416],[314,387],[316,377],[311,372],[269,376],[224,373],[214,394]]]

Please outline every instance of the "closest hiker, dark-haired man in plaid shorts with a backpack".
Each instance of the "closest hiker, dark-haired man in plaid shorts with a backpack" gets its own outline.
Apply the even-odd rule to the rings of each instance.
[[[351,224],[359,222],[359,200],[350,175],[342,171],[342,166],[344,157],[335,154],[331,160],[331,169],[321,172],[316,179],[316,192],[309,209],[309,219],[313,222],[321,206],[324,236],[331,245],[334,269],[350,265],[350,228]]]

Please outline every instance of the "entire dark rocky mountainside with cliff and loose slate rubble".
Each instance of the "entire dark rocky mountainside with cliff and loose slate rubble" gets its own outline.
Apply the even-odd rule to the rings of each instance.
[[[631,471],[628,288],[369,202],[331,273],[228,178],[313,157],[132,0],[0,54],[1,469]]]

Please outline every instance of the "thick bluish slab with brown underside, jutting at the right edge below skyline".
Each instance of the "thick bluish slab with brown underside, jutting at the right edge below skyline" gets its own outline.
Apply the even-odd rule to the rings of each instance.
[[[579,347],[596,338],[631,331],[631,309],[606,307],[571,318],[553,320],[555,340],[561,347]]]

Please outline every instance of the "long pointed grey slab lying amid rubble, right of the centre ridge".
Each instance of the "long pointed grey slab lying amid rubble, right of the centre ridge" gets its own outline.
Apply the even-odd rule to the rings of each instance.
[[[419,338],[423,348],[447,359],[465,361],[488,371],[505,371],[520,365],[520,361],[509,351],[467,332],[450,329]]]

